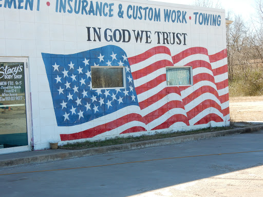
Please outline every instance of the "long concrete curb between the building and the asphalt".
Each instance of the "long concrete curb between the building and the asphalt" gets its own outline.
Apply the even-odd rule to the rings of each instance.
[[[83,150],[58,149],[58,150],[30,151],[30,152],[9,154],[8,156],[6,156],[7,158],[5,158],[4,155],[0,155],[0,167],[10,167],[10,166],[23,165],[23,164],[51,162],[58,160],[73,159],[82,156],[90,156],[90,155],[105,154],[111,152],[134,150],[140,148],[179,144],[182,142],[210,139],[212,137],[255,132],[261,129],[263,129],[263,125],[245,127],[245,128],[236,128],[231,130],[216,131],[209,133],[182,135],[182,136],[171,137],[166,139],[149,140],[149,141],[134,142],[128,144],[89,148]]]

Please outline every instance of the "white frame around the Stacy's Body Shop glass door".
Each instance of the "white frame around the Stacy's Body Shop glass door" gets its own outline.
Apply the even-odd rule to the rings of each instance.
[[[0,149],[0,154],[8,154],[15,152],[24,152],[31,150],[31,136],[32,136],[32,115],[31,115],[31,94],[29,89],[29,66],[28,57],[3,57],[0,56],[0,62],[23,62],[25,75],[25,98],[26,98],[26,122],[27,122],[27,146],[18,146],[12,148]]]

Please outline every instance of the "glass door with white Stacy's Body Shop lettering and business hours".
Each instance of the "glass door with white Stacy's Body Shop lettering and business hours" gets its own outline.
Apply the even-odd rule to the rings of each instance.
[[[0,57],[0,154],[29,150],[26,59]]]

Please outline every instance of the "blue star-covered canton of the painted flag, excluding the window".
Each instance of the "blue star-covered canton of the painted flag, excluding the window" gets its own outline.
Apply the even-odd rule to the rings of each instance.
[[[42,53],[42,57],[58,126],[79,125],[139,106],[127,55],[120,47],[108,45],[69,55]],[[126,87],[92,89],[91,66],[124,67]]]

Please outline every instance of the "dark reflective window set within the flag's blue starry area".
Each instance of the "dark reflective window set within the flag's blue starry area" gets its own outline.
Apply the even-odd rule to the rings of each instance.
[[[92,88],[123,88],[124,67],[91,66]]]

